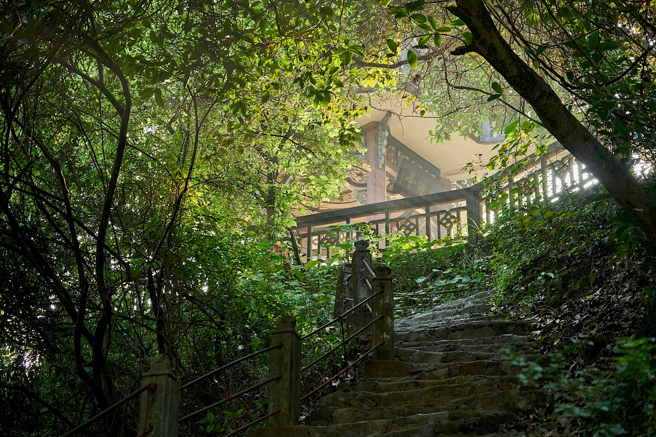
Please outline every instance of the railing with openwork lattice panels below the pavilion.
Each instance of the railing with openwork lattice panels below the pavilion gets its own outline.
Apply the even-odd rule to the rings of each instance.
[[[558,143],[546,155],[532,156],[514,175],[501,174],[504,185],[497,198],[506,204],[553,201],[564,190],[575,191],[596,179]],[[476,229],[492,223],[499,212],[493,199],[480,197],[483,184],[430,195],[389,200],[301,216],[296,219],[296,238],[305,259],[325,259],[339,242],[359,238],[367,230],[378,235],[476,237]],[[382,247],[384,247],[384,240]]]

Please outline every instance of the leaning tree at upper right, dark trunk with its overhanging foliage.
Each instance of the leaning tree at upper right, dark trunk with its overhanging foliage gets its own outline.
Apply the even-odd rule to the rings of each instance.
[[[384,7],[389,3],[382,1]],[[457,0],[455,5],[426,9],[422,14],[424,1],[419,0],[393,5],[388,12],[405,22],[406,31],[413,31],[405,40],[415,39],[412,47],[424,51],[420,56],[409,52],[406,62],[412,67],[438,57],[451,62],[448,52],[483,58],[656,245],[655,199],[630,168],[636,156],[653,159],[648,140],[656,130],[649,117],[653,109],[649,84],[654,32],[648,20],[652,8],[651,3],[621,0],[507,5]],[[451,21],[448,13],[458,19]],[[441,47],[443,37],[449,40],[445,47]],[[396,54],[395,45],[390,44],[390,49]],[[363,65],[380,67],[371,62]],[[545,79],[560,86],[560,94],[572,103],[569,107]],[[491,85],[495,85],[493,92],[483,91],[488,101],[504,93],[499,83]]]

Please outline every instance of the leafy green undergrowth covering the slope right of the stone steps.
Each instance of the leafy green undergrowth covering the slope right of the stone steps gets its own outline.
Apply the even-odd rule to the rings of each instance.
[[[481,233],[476,244],[401,238],[383,259],[398,294],[451,290],[453,298],[487,288],[496,311],[533,322],[543,356],[515,357],[520,381],[550,390],[554,403],[503,429],[656,435],[656,333],[641,323],[656,256],[642,232],[591,187],[558,202],[506,205]]]

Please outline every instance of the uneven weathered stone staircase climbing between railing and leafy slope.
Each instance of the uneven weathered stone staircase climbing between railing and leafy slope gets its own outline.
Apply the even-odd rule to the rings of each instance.
[[[518,390],[519,370],[502,360],[501,350],[531,355],[531,325],[489,314],[488,297],[480,293],[397,320],[396,361],[368,362],[364,379],[322,398],[307,425],[276,435],[524,436],[498,433],[499,426],[544,406],[548,394]]]

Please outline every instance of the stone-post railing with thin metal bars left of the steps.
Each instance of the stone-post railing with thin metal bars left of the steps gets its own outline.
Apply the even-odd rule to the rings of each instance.
[[[352,254],[350,265],[348,290],[344,295],[344,301],[348,302],[348,309],[342,310],[336,301],[335,309],[338,315],[333,320],[306,335],[301,335],[296,330],[296,319],[292,316],[282,316],[276,322],[277,328],[272,332],[269,347],[215,368],[182,385],[178,382],[171,366],[171,360],[167,355],[147,358],[150,370],[143,374],[140,389],[67,432],[65,436],[86,432],[85,428],[94,425],[98,419],[140,396],[138,437],[176,437],[178,423],[190,423],[188,422],[190,419],[197,421],[199,418],[206,417],[207,412],[226,408],[226,405],[234,410],[232,402],[247,393],[250,393],[251,396],[253,394],[264,396],[264,393],[258,392],[258,389],[267,387],[268,393],[265,397],[268,399],[268,411],[266,414],[256,417],[248,423],[241,423],[238,415],[233,411],[232,429],[226,431],[224,437],[238,436],[247,430],[249,436],[280,437],[288,435],[284,430],[280,431],[280,427],[298,425],[302,402],[321,396],[331,388],[333,381],[356,366],[364,366],[365,373],[369,375],[379,373],[383,375],[396,368],[405,368],[404,366],[407,365],[393,361],[394,294],[390,269],[384,265],[372,265],[373,260],[367,248],[368,245],[369,243],[363,240],[356,242],[356,251]],[[321,333],[325,333],[328,327],[341,329],[342,341],[329,351],[304,364],[302,347],[305,344],[308,349],[314,349],[315,343],[312,342]],[[316,387],[302,386],[301,377],[304,372],[325,362],[336,352],[341,354],[341,349],[351,341],[358,343],[357,359],[350,363],[344,363],[345,365],[335,375],[330,375],[325,380],[322,378]],[[194,390],[192,387],[201,382],[213,383],[216,381],[216,375],[225,375],[226,370],[233,366],[266,353],[268,353],[268,378],[245,388],[228,386],[226,387],[228,395],[225,398],[209,400],[209,405],[180,417],[182,393]],[[344,354],[344,359],[346,359],[346,354]],[[219,377],[219,379],[221,378]],[[226,385],[229,384],[227,378],[222,379],[226,381]],[[305,380],[312,380],[312,378]],[[267,421],[266,428],[249,429],[265,420]],[[96,427],[98,427],[97,423]]]

